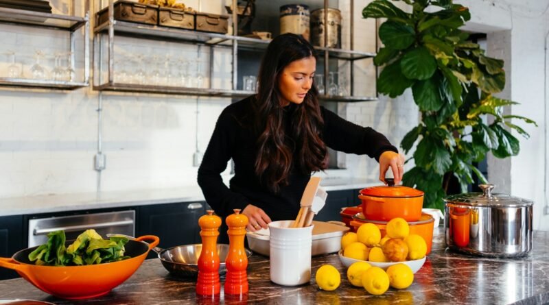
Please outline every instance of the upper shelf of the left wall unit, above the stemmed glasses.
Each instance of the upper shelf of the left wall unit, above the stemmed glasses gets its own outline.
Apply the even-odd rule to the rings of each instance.
[[[86,22],[88,22],[88,16],[66,16],[29,10],[0,8],[0,23],[30,25],[32,27],[46,27],[74,32],[85,25]]]

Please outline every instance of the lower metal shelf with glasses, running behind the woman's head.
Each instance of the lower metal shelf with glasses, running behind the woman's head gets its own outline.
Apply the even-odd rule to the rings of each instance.
[[[226,90],[226,89],[210,89],[210,88],[188,88],[188,87],[176,87],[176,86],[154,86],[154,85],[141,85],[141,84],[121,84],[113,82],[111,84],[102,84],[100,86],[94,86],[93,90],[100,91],[114,91],[114,92],[126,92],[126,93],[158,93],[167,95],[190,95],[200,97],[248,97],[255,94],[253,91],[246,90]],[[320,101],[345,101],[345,102],[358,102],[358,101],[375,101],[377,97],[342,97],[342,96],[329,96],[320,95],[318,97]]]

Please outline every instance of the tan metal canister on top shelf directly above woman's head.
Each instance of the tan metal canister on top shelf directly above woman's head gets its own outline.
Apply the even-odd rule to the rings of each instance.
[[[294,33],[309,40],[309,6],[288,4],[280,7],[280,34]]]

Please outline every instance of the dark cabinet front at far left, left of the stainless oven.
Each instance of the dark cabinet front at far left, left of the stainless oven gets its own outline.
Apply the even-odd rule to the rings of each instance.
[[[21,249],[23,249],[23,216],[0,217],[0,257],[11,257]],[[0,268],[0,280],[18,276],[12,269]]]

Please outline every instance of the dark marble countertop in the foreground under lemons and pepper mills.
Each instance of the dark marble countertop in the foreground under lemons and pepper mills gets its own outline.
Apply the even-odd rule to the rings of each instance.
[[[440,230],[440,229],[439,229]],[[312,279],[302,286],[279,286],[269,280],[269,260],[253,255],[248,264],[249,292],[244,300],[225,296],[197,297],[194,281],[172,278],[158,259],[146,260],[116,289],[78,304],[545,304],[549,302],[549,232],[534,233],[533,252],[524,258],[479,258],[445,249],[443,234],[436,234],[432,253],[415,274],[408,289],[390,288],[373,296],[349,284],[346,268],[337,254],[312,260]],[[336,291],[320,291],[314,274],[323,264],[340,270]],[[222,289],[223,291],[223,289]],[[56,304],[73,304],[39,291],[19,278],[0,281],[0,299],[25,298]],[[370,303],[371,302],[371,303]]]

